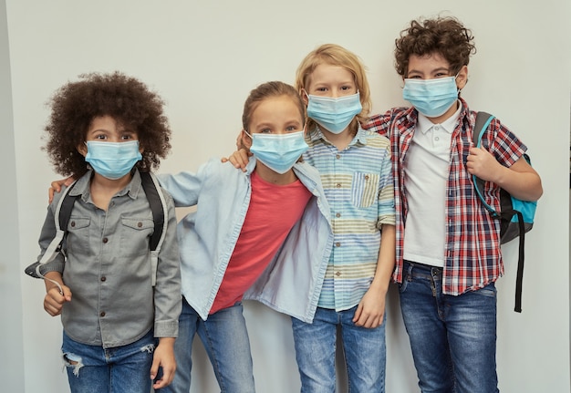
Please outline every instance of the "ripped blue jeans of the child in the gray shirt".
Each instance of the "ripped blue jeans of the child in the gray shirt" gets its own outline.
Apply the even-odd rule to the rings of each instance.
[[[71,393],[150,392],[155,346],[152,330],[132,344],[107,349],[78,343],[64,332],[61,351]]]

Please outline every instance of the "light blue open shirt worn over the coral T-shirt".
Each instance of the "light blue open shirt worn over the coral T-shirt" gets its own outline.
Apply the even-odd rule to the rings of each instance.
[[[197,205],[178,224],[182,295],[206,319],[242,230],[252,193],[252,157],[246,172],[219,158],[197,173],[159,175],[175,206]],[[264,273],[244,294],[287,315],[311,322],[333,244],[330,212],[317,170],[296,163],[297,178],[313,197]],[[275,206],[275,209],[279,209]],[[252,250],[255,253],[255,250]]]

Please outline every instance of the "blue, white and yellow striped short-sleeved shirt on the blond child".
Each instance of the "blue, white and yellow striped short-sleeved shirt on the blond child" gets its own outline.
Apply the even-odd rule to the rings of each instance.
[[[339,151],[317,127],[306,142],[303,158],[321,175],[334,233],[317,305],[347,310],[358,305],[373,280],[382,225],[395,224],[389,140],[359,128]]]

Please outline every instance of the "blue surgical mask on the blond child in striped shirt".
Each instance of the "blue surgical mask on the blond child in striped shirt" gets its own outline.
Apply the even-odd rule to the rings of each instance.
[[[307,94],[307,116],[333,134],[347,129],[351,120],[361,113],[362,109],[358,92],[339,98]]]

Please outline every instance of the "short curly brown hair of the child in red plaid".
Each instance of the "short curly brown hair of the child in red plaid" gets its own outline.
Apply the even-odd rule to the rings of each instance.
[[[452,16],[413,20],[395,40],[395,68],[402,78],[406,78],[411,55],[422,57],[438,53],[456,74],[463,66],[468,66],[470,56],[476,53],[472,41],[472,31]]]

